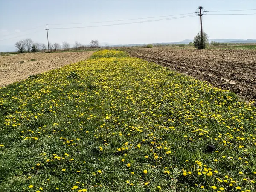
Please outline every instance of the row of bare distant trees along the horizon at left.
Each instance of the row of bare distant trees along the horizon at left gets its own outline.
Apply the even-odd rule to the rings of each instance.
[[[43,43],[37,43],[33,42],[32,39],[24,39],[17,41],[14,46],[17,48],[17,51],[19,53],[25,53],[25,52],[46,52],[48,50],[48,46]],[[91,40],[89,46],[82,45],[81,43],[75,41],[75,44],[73,45],[73,49],[75,50],[83,50],[83,49],[89,49],[89,48],[100,48],[99,41],[98,40]],[[70,50],[70,44],[66,41],[62,42],[61,44],[58,43],[49,43],[49,51],[57,51],[57,50],[63,50],[68,51]]]

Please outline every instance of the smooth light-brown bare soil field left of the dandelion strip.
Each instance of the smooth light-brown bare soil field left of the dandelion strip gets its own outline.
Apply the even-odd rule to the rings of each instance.
[[[29,75],[86,60],[93,52],[25,53],[0,56],[0,86],[26,79]],[[31,59],[35,61],[29,61]],[[24,63],[20,63],[22,61]]]

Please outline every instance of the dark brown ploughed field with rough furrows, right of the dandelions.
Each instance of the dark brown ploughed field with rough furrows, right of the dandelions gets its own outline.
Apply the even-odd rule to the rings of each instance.
[[[256,101],[255,50],[142,48],[128,53]]]

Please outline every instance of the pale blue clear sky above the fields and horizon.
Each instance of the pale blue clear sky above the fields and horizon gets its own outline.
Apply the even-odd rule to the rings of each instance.
[[[256,39],[256,15],[209,15],[256,13],[256,10],[211,12],[256,9],[256,0],[0,0],[0,52],[15,51],[15,42],[26,38],[47,44],[46,24],[49,42],[67,41],[71,46],[75,41],[89,44],[92,39],[97,39],[102,46],[193,39],[200,31],[199,17],[159,19],[193,16],[198,6],[209,11],[202,20],[203,30],[210,39]],[[178,16],[159,17],[166,15]],[[155,18],[129,20],[145,17]],[[112,25],[145,20],[159,21]],[[112,26],[54,29],[99,25]]]

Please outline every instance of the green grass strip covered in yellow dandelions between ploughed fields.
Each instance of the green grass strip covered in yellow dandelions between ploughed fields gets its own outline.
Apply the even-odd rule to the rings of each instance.
[[[253,192],[255,119],[234,93],[98,51],[0,88],[0,191]]]

